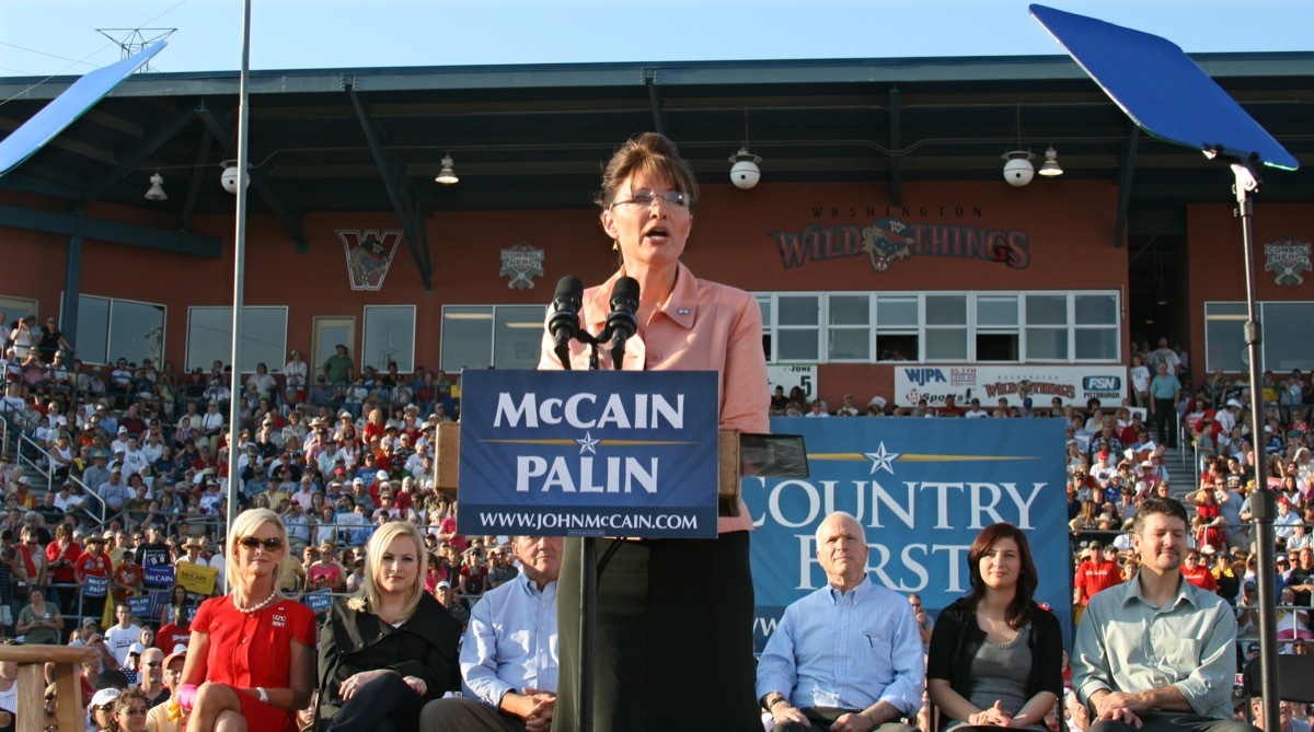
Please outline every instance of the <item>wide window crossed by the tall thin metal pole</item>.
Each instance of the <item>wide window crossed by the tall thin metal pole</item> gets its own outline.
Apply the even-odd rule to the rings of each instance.
[[[258,363],[269,371],[281,371],[288,361],[288,308],[242,308],[242,359],[238,369],[243,374],[255,373]],[[233,308],[193,307],[187,314],[187,370],[210,369],[218,361],[233,359]]]

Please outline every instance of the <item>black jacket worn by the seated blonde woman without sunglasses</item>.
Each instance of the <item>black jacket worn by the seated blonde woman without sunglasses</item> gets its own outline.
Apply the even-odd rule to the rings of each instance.
[[[460,639],[461,624],[428,593],[420,596],[415,614],[398,628],[338,600],[319,632],[321,719],[338,714],[343,704],[339,685],[364,670],[393,669],[401,676],[423,678],[428,687],[426,699],[459,689]]]

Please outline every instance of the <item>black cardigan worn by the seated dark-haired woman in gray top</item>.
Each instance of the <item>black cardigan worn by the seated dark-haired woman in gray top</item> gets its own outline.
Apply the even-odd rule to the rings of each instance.
[[[926,656],[926,678],[943,678],[949,686],[967,698],[971,691],[972,659],[986,631],[976,624],[976,610],[967,598],[957,600],[936,618],[936,630],[930,634],[930,649]],[[1031,649],[1031,673],[1026,683],[1026,698],[1041,691],[1050,691],[1063,698],[1063,630],[1054,613],[1031,603],[1031,634],[1028,636]],[[953,722],[941,715],[941,728]]]

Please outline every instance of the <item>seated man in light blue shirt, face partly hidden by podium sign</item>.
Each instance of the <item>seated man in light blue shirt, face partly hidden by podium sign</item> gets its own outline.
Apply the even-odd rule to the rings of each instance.
[[[557,690],[560,537],[515,537],[522,572],[484,593],[461,643],[461,693],[420,712],[422,732],[547,732]],[[907,603],[904,603],[907,605]]]

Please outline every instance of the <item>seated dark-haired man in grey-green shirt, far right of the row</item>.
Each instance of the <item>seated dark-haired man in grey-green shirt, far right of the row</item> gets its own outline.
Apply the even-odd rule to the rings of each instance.
[[[1092,597],[1076,628],[1072,687],[1089,732],[1255,732],[1233,719],[1233,611],[1181,576],[1187,509],[1152,497],[1133,522],[1141,571]]]

